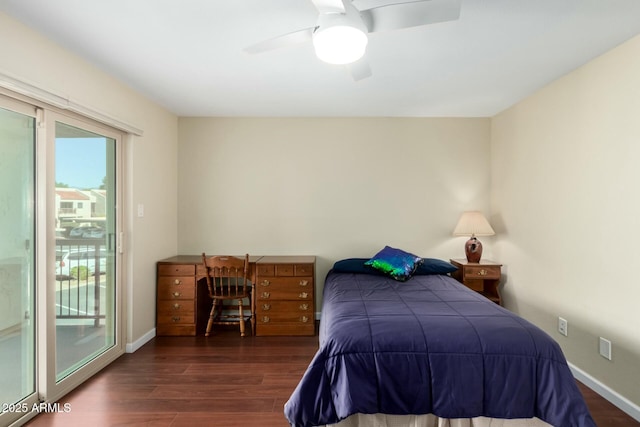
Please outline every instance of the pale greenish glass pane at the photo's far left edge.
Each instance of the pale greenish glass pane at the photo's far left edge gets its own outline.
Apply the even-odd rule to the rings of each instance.
[[[6,405],[25,402],[36,391],[34,162],[34,117],[0,108],[0,402],[3,410],[10,409]]]

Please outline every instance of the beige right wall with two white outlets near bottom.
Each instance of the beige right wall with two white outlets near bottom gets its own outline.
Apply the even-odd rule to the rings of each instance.
[[[640,405],[640,37],[492,120],[506,306]],[[557,317],[569,335],[556,332]],[[598,339],[613,343],[613,360]]]

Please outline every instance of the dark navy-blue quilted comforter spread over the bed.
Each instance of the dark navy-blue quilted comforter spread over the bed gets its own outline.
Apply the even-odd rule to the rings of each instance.
[[[448,276],[331,271],[320,348],[285,416],[306,427],[354,413],[595,427],[560,347],[526,320]]]

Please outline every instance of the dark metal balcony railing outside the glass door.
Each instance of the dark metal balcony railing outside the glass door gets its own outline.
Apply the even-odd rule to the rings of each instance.
[[[56,318],[105,318],[107,252],[102,239],[56,240]]]

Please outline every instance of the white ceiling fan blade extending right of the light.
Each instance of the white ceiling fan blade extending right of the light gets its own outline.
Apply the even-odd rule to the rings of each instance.
[[[399,30],[454,21],[460,17],[461,0],[404,1],[361,10],[369,32]]]

